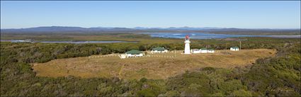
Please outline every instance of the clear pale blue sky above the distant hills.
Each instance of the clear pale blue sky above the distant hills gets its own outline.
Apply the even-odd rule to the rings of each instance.
[[[1,29],[300,28],[300,1],[1,1]]]

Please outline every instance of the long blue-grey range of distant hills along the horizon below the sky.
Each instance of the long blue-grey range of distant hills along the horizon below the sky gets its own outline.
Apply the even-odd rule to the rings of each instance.
[[[300,29],[246,29],[246,28],[114,28],[114,27],[65,27],[44,26],[36,28],[1,29],[1,33],[142,33],[142,32],[198,32],[237,35],[300,35]]]

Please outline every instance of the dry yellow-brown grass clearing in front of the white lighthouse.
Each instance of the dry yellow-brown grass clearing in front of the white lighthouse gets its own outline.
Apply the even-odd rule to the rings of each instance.
[[[137,57],[120,59],[119,57],[76,57],[55,59],[50,62],[34,64],[33,69],[38,76],[81,76],[119,77],[123,79],[166,79],[186,70],[202,67],[218,67],[232,69],[244,67],[261,57],[274,56],[276,50],[256,49],[239,52],[217,50],[214,54],[181,55],[176,57]],[[149,53],[148,53],[149,54]],[[149,54],[174,56],[174,52],[166,54]]]

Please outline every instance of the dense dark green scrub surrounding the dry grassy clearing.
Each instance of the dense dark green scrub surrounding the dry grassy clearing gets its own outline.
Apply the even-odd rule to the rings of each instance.
[[[201,42],[201,41],[200,41]],[[223,49],[216,41],[204,40]],[[206,67],[166,80],[79,77],[38,77],[30,63],[51,59],[169,49],[183,44],[42,44],[1,42],[1,96],[300,96],[300,40],[250,38],[245,49],[275,48],[276,57],[258,59],[236,69]],[[195,44],[195,47],[203,46]],[[218,49],[218,48],[217,48]]]

